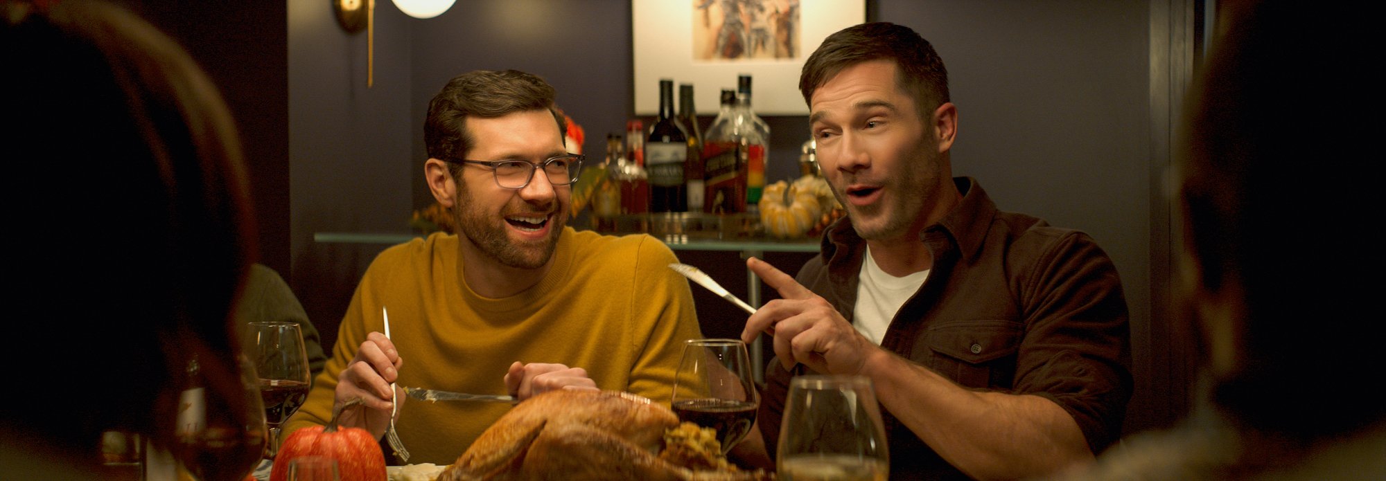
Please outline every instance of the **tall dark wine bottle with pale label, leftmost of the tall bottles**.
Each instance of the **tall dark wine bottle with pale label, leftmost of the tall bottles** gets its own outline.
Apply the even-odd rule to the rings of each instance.
[[[660,80],[660,116],[644,142],[644,169],[650,173],[650,211],[687,211],[683,181],[689,137],[674,115],[674,80]]]

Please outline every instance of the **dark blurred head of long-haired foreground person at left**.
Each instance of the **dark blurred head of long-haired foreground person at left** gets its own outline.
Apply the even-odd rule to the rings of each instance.
[[[230,311],[255,253],[230,113],[186,51],[109,4],[0,1],[0,65],[25,236],[7,339],[26,352],[0,430],[91,462],[105,430],[166,448],[190,361],[208,395],[244,399]]]

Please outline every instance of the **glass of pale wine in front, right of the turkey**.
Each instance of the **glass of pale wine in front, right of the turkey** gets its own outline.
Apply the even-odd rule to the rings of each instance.
[[[884,481],[890,449],[870,379],[791,379],[778,451],[780,480]]]

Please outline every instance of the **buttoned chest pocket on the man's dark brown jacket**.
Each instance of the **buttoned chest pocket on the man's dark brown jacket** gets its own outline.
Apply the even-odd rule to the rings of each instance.
[[[963,387],[1010,388],[1024,334],[1013,321],[944,321],[924,329],[926,366]]]

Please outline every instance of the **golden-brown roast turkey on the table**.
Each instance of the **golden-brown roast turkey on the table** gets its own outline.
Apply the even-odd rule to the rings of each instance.
[[[681,428],[697,427],[679,426],[672,411],[635,394],[549,391],[496,420],[438,481],[773,480],[710,462],[717,449],[690,455],[681,444],[665,452],[665,434]]]

